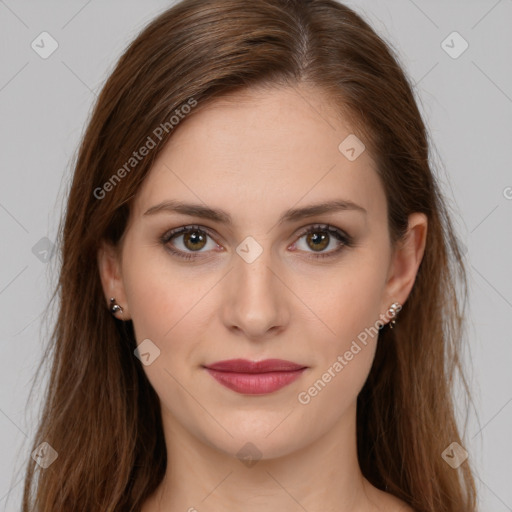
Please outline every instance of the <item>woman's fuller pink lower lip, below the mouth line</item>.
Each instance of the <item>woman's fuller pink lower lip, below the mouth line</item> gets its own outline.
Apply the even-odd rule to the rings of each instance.
[[[261,395],[284,388],[298,379],[306,368],[288,372],[235,373],[206,368],[217,382],[237,393]]]

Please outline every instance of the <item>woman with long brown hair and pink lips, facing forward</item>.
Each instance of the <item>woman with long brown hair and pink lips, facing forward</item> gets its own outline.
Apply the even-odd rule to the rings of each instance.
[[[409,81],[348,7],[150,23],[61,240],[25,511],[476,510],[464,264]]]

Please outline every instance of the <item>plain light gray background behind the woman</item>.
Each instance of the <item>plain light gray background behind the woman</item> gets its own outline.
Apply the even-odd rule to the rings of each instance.
[[[57,258],[44,261],[51,256],[45,237],[55,240],[72,158],[97,93],[127,43],[170,4],[0,0],[2,510],[19,510],[41,400],[27,404],[52,320],[44,308]],[[474,407],[464,447],[477,472],[481,510],[512,511],[512,0],[347,4],[397,49],[416,84],[433,162],[469,261],[464,358]],[[43,31],[58,42],[47,59],[31,47]],[[457,58],[445,51],[462,49],[460,40],[446,40],[453,31],[469,44]],[[466,404],[459,401],[458,409],[463,418]]]

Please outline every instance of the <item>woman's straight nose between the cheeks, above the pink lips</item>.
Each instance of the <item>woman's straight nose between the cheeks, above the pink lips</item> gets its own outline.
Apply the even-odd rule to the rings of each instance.
[[[224,284],[223,322],[250,340],[282,332],[288,324],[290,291],[282,269],[267,248],[252,262],[234,255],[234,268]]]

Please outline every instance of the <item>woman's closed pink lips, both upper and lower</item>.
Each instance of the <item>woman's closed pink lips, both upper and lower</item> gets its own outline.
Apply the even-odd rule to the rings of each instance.
[[[277,391],[299,378],[306,368],[282,359],[230,359],[205,366],[208,373],[220,384],[248,395]]]

